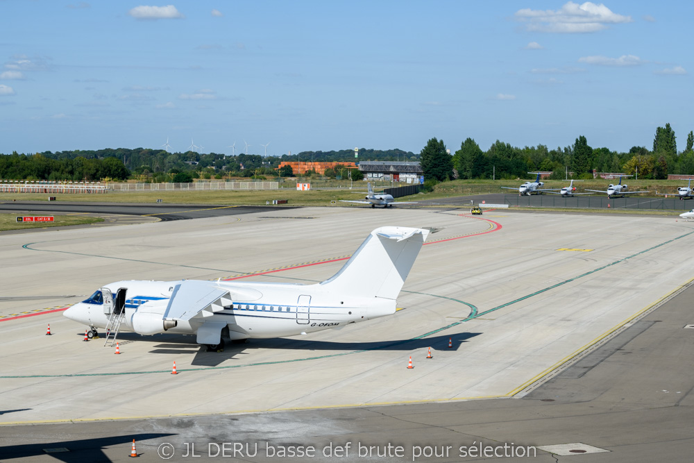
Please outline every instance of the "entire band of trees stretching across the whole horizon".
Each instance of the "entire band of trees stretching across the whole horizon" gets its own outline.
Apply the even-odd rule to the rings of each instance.
[[[497,140],[482,151],[471,137],[455,153],[449,154],[443,140],[432,138],[420,153],[400,149],[354,149],[303,151],[296,154],[263,157],[257,154],[169,153],[162,149],[101,149],[44,151],[33,155],[0,155],[0,178],[27,180],[99,180],[140,176],[149,181],[222,178],[222,176],[277,176],[282,161],[358,162],[359,160],[416,161],[424,170],[425,180],[452,178],[525,178],[529,171],[553,171],[552,178],[564,178],[572,171],[575,178],[592,178],[593,169],[602,172],[636,174],[640,178],[667,178],[668,174],[694,175],[694,133],[688,133],[686,148],[677,151],[675,131],[670,124],[658,127],[652,149],[633,146],[626,153],[605,147],[593,148],[584,135],[573,145],[548,149],[548,146],[519,148]],[[180,174],[180,175],[178,175]],[[280,173],[287,176],[285,169]],[[293,173],[292,173],[293,174]]]

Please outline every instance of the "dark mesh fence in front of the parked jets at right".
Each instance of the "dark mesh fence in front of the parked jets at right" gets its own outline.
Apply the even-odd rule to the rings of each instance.
[[[577,208],[577,209],[625,209],[625,210],[691,210],[694,201],[677,198],[607,198],[607,196],[573,196],[563,198],[561,196],[548,196],[536,194],[532,196],[518,196],[505,194],[505,203],[511,206],[530,208]]]

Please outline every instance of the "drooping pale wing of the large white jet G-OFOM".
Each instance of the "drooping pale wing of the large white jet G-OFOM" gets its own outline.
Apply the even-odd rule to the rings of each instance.
[[[228,294],[228,290],[222,289],[212,281],[183,280],[174,286],[164,319],[192,319],[225,294]]]

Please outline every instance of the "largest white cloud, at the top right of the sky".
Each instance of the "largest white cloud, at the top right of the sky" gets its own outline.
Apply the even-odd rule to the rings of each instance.
[[[607,24],[633,22],[631,16],[618,15],[602,3],[591,1],[578,4],[568,1],[559,10],[516,11],[516,19],[525,23],[528,31],[549,33],[589,33],[602,31]]]

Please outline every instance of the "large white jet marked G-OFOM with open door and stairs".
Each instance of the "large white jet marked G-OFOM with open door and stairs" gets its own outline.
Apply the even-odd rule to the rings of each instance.
[[[196,335],[209,350],[224,338],[283,337],[391,315],[429,230],[373,230],[334,276],[312,285],[239,281],[119,281],[96,290],[65,317],[140,335]],[[108,342],[108,336],[106,342]],[[112,342],[113,344],[113,342]]]

